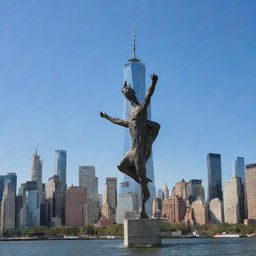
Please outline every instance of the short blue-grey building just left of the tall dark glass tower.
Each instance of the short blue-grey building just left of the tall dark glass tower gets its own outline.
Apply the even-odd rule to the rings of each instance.
[[[192,204],[197,197],[200,197],[203,201],[205,200],[204,187],[202,186],[202,180],[190,180],[187,186],[187,197],[189,204]]]

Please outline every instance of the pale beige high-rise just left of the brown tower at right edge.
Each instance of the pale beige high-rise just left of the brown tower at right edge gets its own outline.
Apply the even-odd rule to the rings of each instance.
[[[229,224],[241,223],[244,219],[244,189],[240,177],[225,183],[224,219]]]

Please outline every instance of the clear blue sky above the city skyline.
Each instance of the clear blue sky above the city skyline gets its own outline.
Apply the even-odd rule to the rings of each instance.
[[[123,66],[132,55],[159,76],[152,120],[155,184],[184,178],[207,184],[207,153],[256,162],[256,2],[242,0],[2,0],[0,2],[0,174],[31,179],[37,148],[43,181],[53,152],[67,150],[67,183],[78,166],[105,178],[123,175],[123,129],[99,117],[122,117]]]

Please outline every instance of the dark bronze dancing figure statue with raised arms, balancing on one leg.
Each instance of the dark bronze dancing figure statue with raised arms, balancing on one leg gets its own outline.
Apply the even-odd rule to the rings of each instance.
[[[158,76],[153,74],[151,75],[151,79],[152,84],[141,104],[137,100],[133,88],[127,86],[126,82],[124,83],[122,93],[131,104],[128,119],[123,120],[100,112],[101,117],[106,118],[114,124],[127,127],[130,130],[132,139],[131,149],[125,154],[117,167],[141,186],[141,207],[139,211],[141,219],[148,218],[145,211],[145,203],[150,197],[148,182],[151,182],[151,180],[146,176],[146,162],[151,155],[152,144],[160,129],[160,124],[147,118],[147,108],[151,96],[154,93]]]

